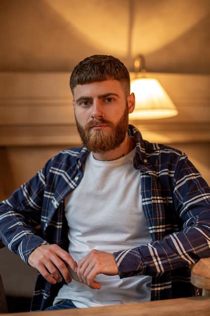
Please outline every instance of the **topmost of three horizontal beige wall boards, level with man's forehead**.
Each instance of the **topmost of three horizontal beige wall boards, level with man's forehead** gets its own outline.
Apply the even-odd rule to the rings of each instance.
[[[0,101],[17,104],[20,102],[68,101],[69,72],[0,72]],[[147,77],[160,81],[174,102],[205,102],[209,100],[210,75],[147,73]],[[134,78],[134,73],[130,73]]]

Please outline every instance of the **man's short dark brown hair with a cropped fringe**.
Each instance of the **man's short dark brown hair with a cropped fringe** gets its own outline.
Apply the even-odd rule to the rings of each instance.
[[[108,55],[93,55],[81,61],[73,70],[70,88],[105,80],[118,80],[124,88],[125,96],[130,94],[130,76],[127,68],[117,58]]]

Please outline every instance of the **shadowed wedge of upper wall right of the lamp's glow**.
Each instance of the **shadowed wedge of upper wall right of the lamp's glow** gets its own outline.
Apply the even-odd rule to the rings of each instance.
[[[203,18],[186,33],[147,56],[148,71],[178,73],[210,73],[210,16]],[[192,47],[194,47],[192,51]],[[205,47],[205,49],[203,49]]]

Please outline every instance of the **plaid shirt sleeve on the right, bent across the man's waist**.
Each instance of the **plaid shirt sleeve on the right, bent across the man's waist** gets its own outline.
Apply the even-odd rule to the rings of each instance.
[[[210,190],[186,156],[177,163],[172,196],[182,230],[161,241],[114,252],[120,278],[159,276],[210,256]]]

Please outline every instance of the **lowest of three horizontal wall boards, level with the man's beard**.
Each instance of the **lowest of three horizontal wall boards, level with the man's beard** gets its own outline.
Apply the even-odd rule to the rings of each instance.
[[[145,139],[151,142],[191,143],[207,142],[210,140],[209,124],[153,124],[146,125],[130,122],[141,130]],[[81,144],[80,136],[75,125],[18,125],[0,126],[0,146],[17,145],[64,145]]]

